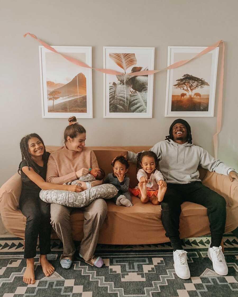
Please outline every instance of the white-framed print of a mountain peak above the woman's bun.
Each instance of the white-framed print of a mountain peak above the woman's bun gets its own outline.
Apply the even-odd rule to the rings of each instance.
[[[91,46],[52,48],[92,67]],[[42,117],[93,118],[92,69],[79,67],[41,45],[39,59]]]

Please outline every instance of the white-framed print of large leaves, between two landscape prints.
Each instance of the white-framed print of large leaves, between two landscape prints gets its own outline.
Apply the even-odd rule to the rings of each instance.
[[[104,68],[124,75],[104,74],[104,118],[152,118],[154,75],[130,72],[154,70],[154,48],[104,47]]]

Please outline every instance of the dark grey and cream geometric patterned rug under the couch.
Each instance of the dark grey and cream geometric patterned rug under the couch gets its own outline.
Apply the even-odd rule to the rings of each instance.
[[[184,240],[191,278],[176,276],[173,250],[169,243],[137,246],[98,244],[96,255],[104,259],[102,268],[75,260],[70,269],[61,268],[62,243],[51,241],[49,260],[56,271],[45,277],[35,258],[34,285],[22,282],[26,269],[23,241],[0,238],[0,296],[4,297],[220,297],[238,296],[238,239],[223,238],[228,275],[217,275],[207,257],[209,237]],[[77,244],[77,243],[76,243]]]

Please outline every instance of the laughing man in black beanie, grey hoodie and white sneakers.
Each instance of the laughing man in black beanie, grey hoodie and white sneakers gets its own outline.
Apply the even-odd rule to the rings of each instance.
[[[190,125],[183,119],[173,121],[166,140],[156,143],[150,151],[156,153],[159,169],[167,183],[167,191],[161,202],[162,224],[166,231],[165,235],[173,247],[177,276],[182,279],[190,278],[187,252],[182,248],[179,237],[179,215],[181,204],[185,201],[201,204],[207,208],[211,230],[208,257],[212,260],[213,269],[217,274],[227,275],[228,268],[220,246],[226,224],[226,200],[201,183],[198,166],[229,175],[231,181],[233,178],[238,180],[238,174],[233,168],[214,159],[200,146],[195,146],[192,143]],[[128,152],[128,159],[136,163],[137,154]]]

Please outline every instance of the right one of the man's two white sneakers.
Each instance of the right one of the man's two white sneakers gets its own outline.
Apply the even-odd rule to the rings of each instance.
[[[207,251],[209,259],[212,261],[214,271],[220,275],[228,274],[226,260],[220,247],[209,247]]]

